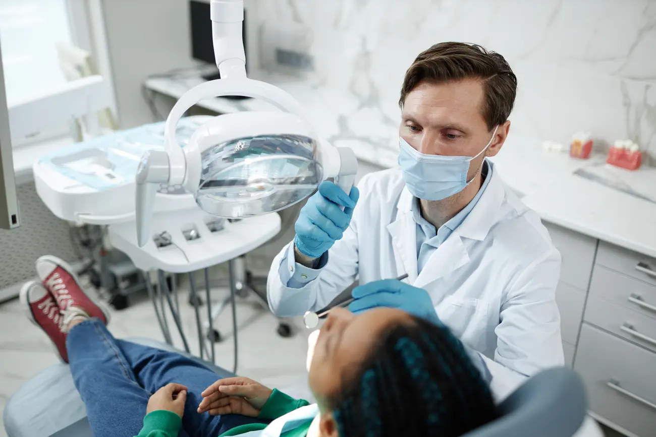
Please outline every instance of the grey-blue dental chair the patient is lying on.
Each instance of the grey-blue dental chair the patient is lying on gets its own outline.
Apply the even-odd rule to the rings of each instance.
[[[131,341],[174,350],[149,339]],[[192,358],[216,371],[219,377],[231,376],[229,371]],[[291,396],[311,400],[306,387],[281,389]],[[499,404],[499,419],[464,437],[587,437],[577,434],[586,417],[586,406],[579,375],[567,368],[545,370]],[[92,437],[85,406],[66,364],[46,368],[20,387],[7,402],[4,423],[8,437]]]

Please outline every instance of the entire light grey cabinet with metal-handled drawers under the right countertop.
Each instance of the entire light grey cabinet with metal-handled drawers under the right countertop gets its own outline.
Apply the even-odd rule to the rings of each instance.
[[[656,259],[545,225],[562,256],[565,365],[583,376],[592,413],[656,436]]]

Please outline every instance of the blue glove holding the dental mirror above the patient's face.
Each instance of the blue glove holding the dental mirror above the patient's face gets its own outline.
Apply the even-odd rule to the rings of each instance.
[[[348,305],[351,313],[361,313],[377,307],[398,308],[428,322],[441,324],[428,292],[396,279],[369,282],[353,289],[354,300]]]

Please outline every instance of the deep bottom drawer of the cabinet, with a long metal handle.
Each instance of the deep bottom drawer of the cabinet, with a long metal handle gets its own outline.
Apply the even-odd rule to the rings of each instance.
[[[642,437],[656,429],[656,354],[584,323],[575,370],[590,410]]]

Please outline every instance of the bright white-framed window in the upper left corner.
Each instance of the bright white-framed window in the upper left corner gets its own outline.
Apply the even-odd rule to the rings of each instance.
[[[99,23],[99,0],[0,0],[0,44],[14,147],[77,137],[72,121],[85,115],[80,109],[84,102],[113,106],[107,49],[100,47],[106,45],[104,26]],[[98,64],[105,66],[102,79],[85,79],[97,72],[80,66]],[[72,74],[72,68],[80,74]]]

